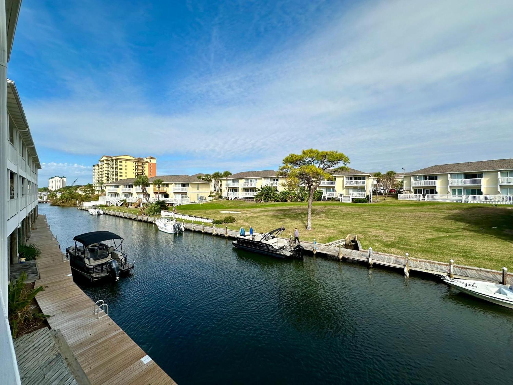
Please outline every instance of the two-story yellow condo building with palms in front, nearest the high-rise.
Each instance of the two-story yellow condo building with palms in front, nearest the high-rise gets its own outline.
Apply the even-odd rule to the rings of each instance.
[[[163,181],[160,186],[153,183],[157,179]],[[134,186],[134,181],[135,178],[126,178],[106,183],[107,196],[100,197],[100,200],[106,200],[109,204],[116,204],[125,199],[129,203],[135,203],[139,199],[144,202],[143,189]],[[210,185],[210,182],[189,175],[161,175],[149,178],[149,187],[146,190],[150,202],[163,199],[170,204],[179,205],[207,201],[210,195]]]

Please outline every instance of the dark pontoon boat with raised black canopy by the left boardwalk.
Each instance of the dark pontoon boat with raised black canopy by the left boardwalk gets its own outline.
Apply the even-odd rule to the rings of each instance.
[[[83,275],[91,282],[104,278],[117,281],[120,274],[128,273],[133,268],[133,261],[127,262],[127,255],[123,253],[123,238],[117,234],[91,232],[77,235],[73,240],[75,246],[66,249],[72,272]],[[110,241],[110,246],[104,241]]]

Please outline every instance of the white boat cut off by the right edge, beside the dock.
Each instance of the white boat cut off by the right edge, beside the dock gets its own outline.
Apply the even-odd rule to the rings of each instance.
[[[513,309],[513,285],[508,286],[500,283],[453,279],[449,276],[444,276],[442,279],[445,283],[460,292]]]

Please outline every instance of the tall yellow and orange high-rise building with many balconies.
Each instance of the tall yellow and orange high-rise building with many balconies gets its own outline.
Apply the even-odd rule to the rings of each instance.
[[[137,178],[146,175],[148,178],[157,175],[157,159],[154,157],[135,158],[130,155],[104,155],[93,165],[93,185],[100,182],[109,183],[126,178]]]

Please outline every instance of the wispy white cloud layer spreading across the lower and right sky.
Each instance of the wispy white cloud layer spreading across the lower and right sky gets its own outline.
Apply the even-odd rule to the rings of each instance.
[[[131,59],[108,83],[123,84],[121,91],[94,82],[100,68],[85,78],[74,73],[69,97],[25,102],[37,143],[70,156],[108,150],[181,159],[162,163],[163,171],[274,168],[307,147],[341,150],[353,167],[371,170],[510,156],[509,1],[331,10],[329,23],[302,40],[192,71],[162,98],[143,97]],[[215,23],[227,22],[220,13]],[[215,63],[223,46],[209,28],[203,59]],[[122,32],[116,39],[130,47]]]

